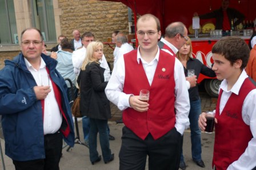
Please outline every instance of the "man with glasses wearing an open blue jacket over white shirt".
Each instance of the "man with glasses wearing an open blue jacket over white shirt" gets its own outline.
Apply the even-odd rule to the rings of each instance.
[[[74,146],[67,85],[55,69],[57,61],[42,53],[43,45],[41,31],[26,28],[21,34],[22,52],[6,60],[0,71],[5,154],[15,169],[57,170],[62,139]]]

